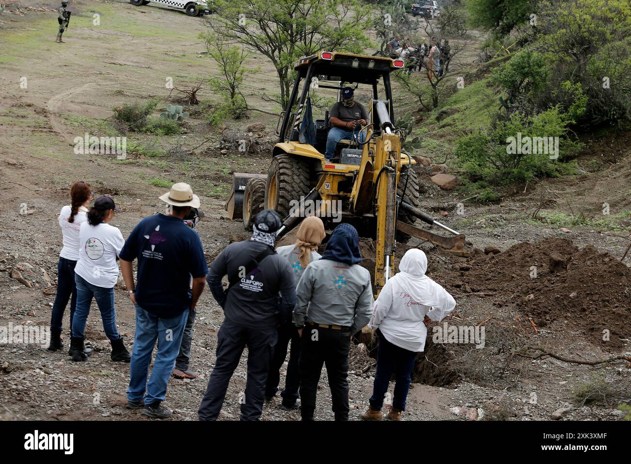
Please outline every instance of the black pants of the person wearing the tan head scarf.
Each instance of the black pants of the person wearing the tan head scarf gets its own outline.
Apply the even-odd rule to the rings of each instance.
[[[266,398],[271,398],[278,391],[280,384],[280,368],[287,357],[287,347],[292,342],[287,364],[287,376],[285,378],[285,390],[281,391],[283,405],[292,407],[298,400],[298,388],[300,388],[300,374],[298,373],[298,359],[300,358],[300,337],[298,330],[292,323],[281,324],[278,328],[278,342],[274,347],[274,355],[269,364],[268,382],[265,387]]]

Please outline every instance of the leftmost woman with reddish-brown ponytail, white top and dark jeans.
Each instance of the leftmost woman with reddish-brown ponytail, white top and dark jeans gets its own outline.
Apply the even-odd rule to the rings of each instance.
[[[57,295],[50,316],[50,345],[48,347],[50,351],[64,349],[64,344],[61,342],[61,330],[68,301],[70,301],[70,327],[73,326],[74,308],[77,301],[74,266],[79,259],[79,228],[88,219],[86,213],[92,198],[92,187],[88,182],[74,182],[70,188],[70,198],[71,204],[61,208],[61,213],[59,213],[63,247],[57,261]]]

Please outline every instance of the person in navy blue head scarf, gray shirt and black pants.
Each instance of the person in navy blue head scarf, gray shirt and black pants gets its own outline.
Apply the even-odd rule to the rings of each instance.
[[[357,230],[340,224],[322,258],[305,269],[298,288],[293,321],[300,333],[300,414],[313,420],[317,384],[326,365],[335,420],[348,420],[348,352],[351,336],[372,314],[370,273],[362,261]]]

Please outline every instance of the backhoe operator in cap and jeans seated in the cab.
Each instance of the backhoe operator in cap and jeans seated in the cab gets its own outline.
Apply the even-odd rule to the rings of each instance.
[[[324,157],[330,160],[335,155],[335,147],[340,140],[359,140],[363,142],[365,133],[360,132],[368,121],[368,112],[362,104],[355,101],[355,91],[345,87],[341,91],[341,100],[331,107],[329,122],[331,129],[326,139]]]

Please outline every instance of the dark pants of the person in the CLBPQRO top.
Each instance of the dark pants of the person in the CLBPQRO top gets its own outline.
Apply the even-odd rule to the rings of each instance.
[[[217,335],[215,369],[199,405],[199,420],[217,420],[228,391],[228,383],[239,365],[246,345],[247,383],[245,392],[239,398],[241,420],[258,420],[261,417],[269,361],[277,338],[276,328],[251,329],[231,321],[223,321]]]

